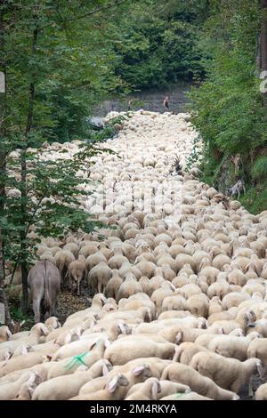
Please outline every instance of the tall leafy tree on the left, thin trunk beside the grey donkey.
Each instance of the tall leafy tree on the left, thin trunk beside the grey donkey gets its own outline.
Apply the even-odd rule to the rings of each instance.
[[[7,171],[1,175],[0,222],[4,257],[21,267],[24,312],[28,307],[28,267],[39,237],[64,236],[79,228],[91,231],[99,225],[79,207],[77,196],[84,192],[76,173],[81,162],[100,149],[87,145],[73,161],[62,159],[56,164],[39,156],[44,141],[54,141],[61,124],[64,104],[54,112],[59,107],[58,92],[70,108],[82,109],[78,124],[88,117],[89,105],[98,92],[112,91],[120,84],[109,64],[114,52],[108,42],[107,13],[124,3],[11,0],[9,8],[1,7],[6,28],[1,32],[1,57],[9,82],[1,126],[6,146],[0,168],[4,173],[7,160]],[[61,141],[69,139],[73,136],[68,132]],[[11,157],[12,150],[17,158]],[[15,189],[15,196],[5,197],[5,189]],[[29,234],[33,223],[35,233]]]

